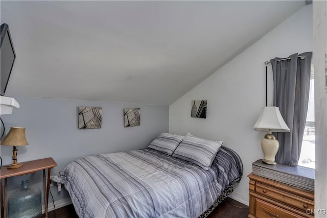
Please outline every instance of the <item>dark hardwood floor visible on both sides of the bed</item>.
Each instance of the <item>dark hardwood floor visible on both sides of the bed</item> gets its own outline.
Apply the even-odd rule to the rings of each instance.
[[[49,218],[78,218],[74,206],[69,204],[65,207],[50,211]],[[246,218],[248,215],[248,206],[227,198],[223,201],[208,218]]]

